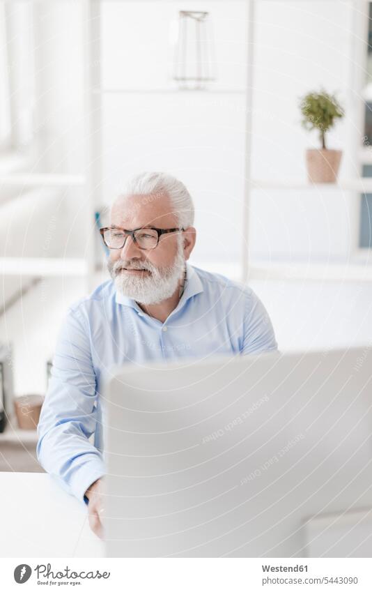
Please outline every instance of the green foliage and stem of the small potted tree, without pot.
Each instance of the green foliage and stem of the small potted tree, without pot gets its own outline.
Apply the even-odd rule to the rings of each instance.
[[[325,146],[325,134],[330,130],[336,119],[341,119],[345,112],[334,95],[323,89],[319,93],[308,93],[300,99],[302,125],[307,130],[318,130],[322,148]]]

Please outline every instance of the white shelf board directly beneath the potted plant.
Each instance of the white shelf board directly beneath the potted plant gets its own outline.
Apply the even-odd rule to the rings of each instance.
[[[252,189],[258,190],[300,190],[300,191],[357,191],[360,193],[372,193],[372,177],[360,179],[340,179],[336,183],[309,183],[308,181],[265,181],[252,179]]]

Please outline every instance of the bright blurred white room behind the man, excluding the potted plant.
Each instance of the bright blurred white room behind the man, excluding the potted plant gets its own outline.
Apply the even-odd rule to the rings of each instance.
[[[370,347],[371,17],[366,0],[0,2],[0,470],[40,470],[28,428],[56,335],[109,277],[98,227],[137,172],[187,185],[192,264],[249,282],[281,351]],[[312,91],[345,112],[333,183],[308,179]]]

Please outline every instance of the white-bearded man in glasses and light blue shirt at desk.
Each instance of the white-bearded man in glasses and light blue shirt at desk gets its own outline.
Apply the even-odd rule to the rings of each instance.
[[[98,536],[101,390],[110,367],[277,349],[268,314],[249,287],[187,264],[193,223],[183,183],[163,173],[132,179],[111,208],[109,227],[100,230],[112,280],[70,308],[59,334],[38,425],[38,459],[88,503]]]

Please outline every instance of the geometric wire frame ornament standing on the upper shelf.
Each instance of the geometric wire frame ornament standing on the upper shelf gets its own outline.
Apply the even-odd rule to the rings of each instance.
[[[181,89],[204,89],[215,80],[214,64],[209,13],[180,10],[173,78]]]

